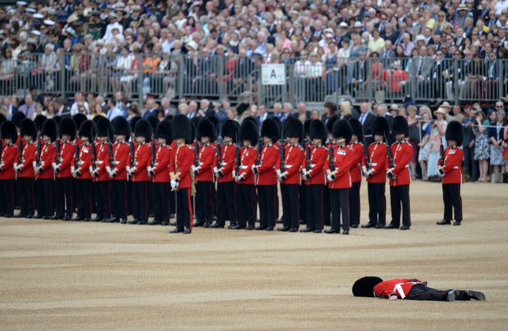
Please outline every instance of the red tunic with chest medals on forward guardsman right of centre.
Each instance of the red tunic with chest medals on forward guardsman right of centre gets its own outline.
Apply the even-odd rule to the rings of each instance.
[[[342,145],[341,147],[333,148],[333,158],[335,170],[332,174],[335,175],[333,181],[329,181],[328,188],[350,188],[351,187],[351,175],[349,169],[351,169],[351,162],[353,160],[354,150],[350,145]],[[325,163],[325,171],[329,171],[329,160]]]

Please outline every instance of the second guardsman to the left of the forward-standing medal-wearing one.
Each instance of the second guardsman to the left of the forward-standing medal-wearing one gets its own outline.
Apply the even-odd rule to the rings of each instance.
[[[283,145],[281,152],[281,166],[277,169],[282,194],[283,227],[278,231],[298,231],[300,220],[300,199],[298,188],[300,186],[300,170],[305,160],[303,143],[303,124],[295,117],[289,117],[285,121],[287,143]]]

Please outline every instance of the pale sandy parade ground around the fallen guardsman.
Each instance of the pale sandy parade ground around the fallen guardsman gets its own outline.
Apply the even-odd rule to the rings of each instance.
[[[508,330],[508,186],[466,183],[462,198],[463,224],[437,226],[441,186],[415,181],[410,231],[349,236],[0,218],[0,327]],[[353,297],[366,275],[476,289],[487,300]]]

